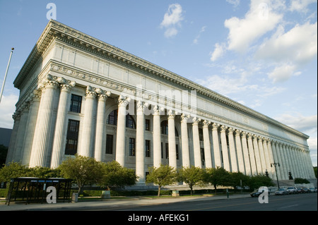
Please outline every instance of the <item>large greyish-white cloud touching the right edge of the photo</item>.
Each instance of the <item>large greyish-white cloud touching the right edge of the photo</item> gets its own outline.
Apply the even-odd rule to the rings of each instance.
[[[273,82],[288,80],[292,75],[317,56],[317,22],[295,25],[285,32],[279,26],[276,33],[266,40],[255,54],[255,59],[269,60],[275,68],[268,73]]]

